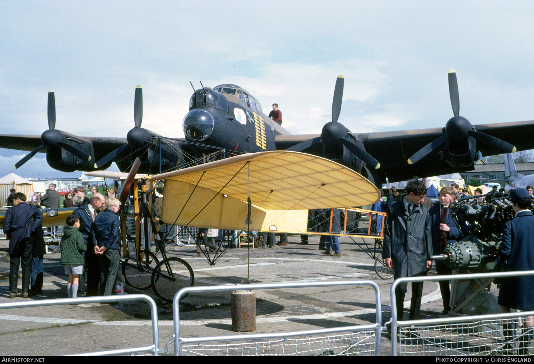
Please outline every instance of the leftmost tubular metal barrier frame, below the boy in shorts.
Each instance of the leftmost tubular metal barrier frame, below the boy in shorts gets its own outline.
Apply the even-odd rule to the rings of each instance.
[[[99,297],[80,297],[80,298],[59,298],[43,299],[38,301],[0,303],[0,310],[3,308],[22,308],[36,306],[56,306],[69,304],[97,303],[97,302],[117,302],[117,301],[138,301],[144,300],[150,305],[152,316],[152,345],[141,347],[130,347],[127,349],[96,351],[91,353],[79,353],[72,355],[118,355],[130,353],[152,352],[153,355],[159,355],[163,351],[159,348],[160,335],[158,328],[158,307],[152,298],[147,295],[127,295],[127,296],[99,296]],[[79,338],[78,338],[79,339]]]

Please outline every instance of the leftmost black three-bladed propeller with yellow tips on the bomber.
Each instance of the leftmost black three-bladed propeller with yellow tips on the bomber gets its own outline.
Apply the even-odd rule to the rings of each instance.
[[[56,97],[54,97],[54,90],[48,92],[48,129],[43,132],[41,135],[42,145],[34,149],[32,152],[24,156],[20,161],[18,161],[13,169],[20,168],[24,163],[28,162],[41,148],[57,148],[62,147],[66,151],[74,154],[75,156],[90,161],[91,156],[81,149],[78,149],[70,144],[67,144],[63,141],[63,135],[59,130],[56,130]]]

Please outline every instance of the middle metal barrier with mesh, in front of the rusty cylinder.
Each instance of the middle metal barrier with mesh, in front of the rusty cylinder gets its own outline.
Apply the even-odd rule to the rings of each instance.
[[[291,331],[270,334],[224,336],[180,336],[180,297],[195,292],[259,290],[273,288],[371,286],[375,291],[376,321],[372,325]],[[382,304],[380,289],[373,281],[231,284],[180,289],[172,301],[175,355],[380,355]],[[206,344],[214,343],[214,344]]]

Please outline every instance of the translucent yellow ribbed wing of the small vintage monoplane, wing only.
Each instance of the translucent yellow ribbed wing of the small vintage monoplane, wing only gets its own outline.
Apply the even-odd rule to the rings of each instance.
[[[365,206],[378,189],[354,170],[307,153],[242,154],[151,177],[210,189],[265,209]]]

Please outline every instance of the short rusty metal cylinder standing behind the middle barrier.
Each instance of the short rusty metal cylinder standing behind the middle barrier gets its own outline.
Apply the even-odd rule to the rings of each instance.
[[[246,333],[256,330],[256,293],[232,292],[232,331]]]

